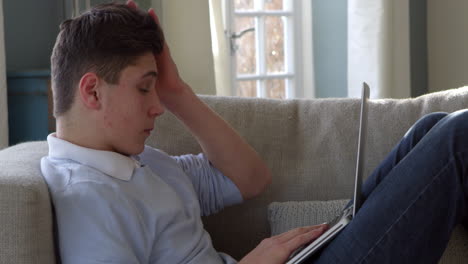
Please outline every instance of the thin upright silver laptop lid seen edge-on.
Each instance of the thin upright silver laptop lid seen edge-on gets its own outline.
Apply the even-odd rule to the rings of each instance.
[[[358,140],[358,153],[357,153],[357,164],[356,164],[356,179],[354,183],[354,206],[353,206],[353,218],[356,216],[357,211],[361,208],[362,204],[362,174],[364,170],[364,152],[366,149],[366,138],[367,138],[367,100],[369,99],[369,85],[367,83],[362,84],[362,97],[361,97],[361,120],[359,124],[359,140]]]

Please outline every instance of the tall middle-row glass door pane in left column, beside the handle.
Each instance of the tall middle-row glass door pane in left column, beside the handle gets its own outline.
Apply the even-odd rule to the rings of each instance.
[[[234,29],[236,34],[239,34],[243,30],[253,28],[254,26],[255,18],[253,17],[237,17],[235,19]],[[237,45],[237,74],[254,74],[257,67],[255,59],[255,31],[247,32],[235,41]]]

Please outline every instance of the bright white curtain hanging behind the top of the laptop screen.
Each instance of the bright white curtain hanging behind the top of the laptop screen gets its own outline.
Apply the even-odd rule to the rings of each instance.
[[[348,1],[349,97],[410,97],[409,1]]]

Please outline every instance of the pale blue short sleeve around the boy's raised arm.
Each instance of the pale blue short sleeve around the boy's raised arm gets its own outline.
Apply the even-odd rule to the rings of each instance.
[[[203,153],[173,157],[190,177],[200,201],[202,215],[217,213],[243,201],[234,182],[216,169]]]

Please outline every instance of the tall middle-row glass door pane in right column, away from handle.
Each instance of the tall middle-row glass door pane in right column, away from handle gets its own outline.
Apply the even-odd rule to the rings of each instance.
[[[284,72],[284,30],[281,17],[265,17],[267,72]]]

